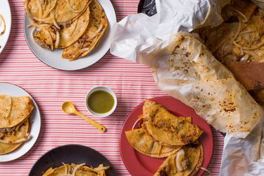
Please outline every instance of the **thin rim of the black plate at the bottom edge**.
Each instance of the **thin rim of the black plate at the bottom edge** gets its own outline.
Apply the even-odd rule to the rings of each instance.
[[[46,151],[45,153],[43,153],[42,156],[40,156],[40,157],[37,159],[37,161],[34,162],[34,164],[32,165],[32,167],[30,168],[30,172],[28,173],[28,175],[31,174],[31,171],[32,171],[32,169],[35,167],[35,165],[37,165],[37,162],[39,162],[44,156],[46,156],[46,154],[48,154],[48,153],[50,153],[51,151],[54,151],[54,150],[56,150],[56,149],[63,148],[63,147],[65,147],[65,146],[82,146],[82,147],[85,147],[85,148],[87,148],[87,149],[89,149],[89,150],[92,150],[92,151],[94,151],[94,152],[96,152],[96,153],[99,153],[101,156],[103,156],[103,158],[106,158],[106,161],[108,161],[109,163],[111,163],[111,161],[109,161],[108,158],[107,158],[106,156],[104,156],[100,151],[96,151],[96,149],[93,149],[92,147],[84,146],[84,145],[81,145],[81,144],[65,144],[65,145],[61,145],[61,146],[56,146],[56,147],[50,149],[49,151]],[[115,170],[115,168],[113,167],[113,164],[112,164],[112,163],[111,163],[111,166],[112,166],[113,171],[115,172],[115,175],[118,175],[117,172],[116,172],[116,170]]]

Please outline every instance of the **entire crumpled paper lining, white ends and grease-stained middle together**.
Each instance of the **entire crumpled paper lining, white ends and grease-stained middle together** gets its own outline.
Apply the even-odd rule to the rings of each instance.
[[[222,23],[220,10],[229,3],[156,0],[156,15],[129,15],[115,25],[111,54],[152,68],[163,92],[227,132],[221,175],[263,175],[263,109],[199,37],[188,33]]]

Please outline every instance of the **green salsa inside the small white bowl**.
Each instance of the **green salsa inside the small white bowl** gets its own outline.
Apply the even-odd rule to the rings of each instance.
[[[87,105],[95,113],[107,113],[111,111],[113,104],[113,96],[103,90],[93,92],[87,99]]]

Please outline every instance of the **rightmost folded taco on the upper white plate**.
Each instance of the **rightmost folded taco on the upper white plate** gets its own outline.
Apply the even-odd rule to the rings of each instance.
[[[108,21],[101,5],[96,0],[92,0],[89,8],[91,14],[87,30],[77,42],[63,50],[63,58],[69,58],[70,61],[73,61],[86,56],[99,44],[103,33],[106,31]]]

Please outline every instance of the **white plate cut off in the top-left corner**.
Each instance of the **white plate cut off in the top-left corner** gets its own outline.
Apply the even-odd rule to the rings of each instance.
[[[8,0],[1,0],[0,2],[0,14],[4,17],[6,21],[6,32],[0,36],[0,54],[6,46],[6,42],[8,41],[8,37],[11,31],[11,10],[8,3]],[[2,23],[0,27],[0,32],[4,30],[4,24]]]

